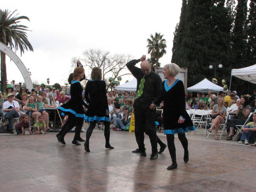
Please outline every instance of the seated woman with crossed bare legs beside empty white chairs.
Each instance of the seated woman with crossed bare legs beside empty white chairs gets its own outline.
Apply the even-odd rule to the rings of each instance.
[[[212,109],[212,126],[207,129],[209,132],[212,132],[213,128],[215,133],[215,140],[219,140],[218,138],[218,129],[220,124],[223,124],[225,121],[227,109],[224,107],[224,99],[223,97],[219,97],[217,100],[218,104],[214,105]]]

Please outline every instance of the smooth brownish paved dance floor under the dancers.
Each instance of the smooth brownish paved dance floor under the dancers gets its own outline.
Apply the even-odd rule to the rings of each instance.
[[[190,132],[188,163],[175,138],[178,168],[167,170],[168,149],[150,160],[148,136],[142,157],[132,153],[137,148],[133,132],[111,131],[115,149],[109,150],[104,132],[95,128],[91,152],[83,143],[71,144],[74,133],[66,135],[66,145],[55,135],[0,134],[0,192],[256,192],[256,147],[225,138]],[[167,143],[164,134],[158,135]]]

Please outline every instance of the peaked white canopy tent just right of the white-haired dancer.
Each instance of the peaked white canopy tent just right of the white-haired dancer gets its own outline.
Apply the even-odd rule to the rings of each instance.
[[[201,93],[208,92],[208,91],[218,92],[218,91],[223,91],[223,87],[218,86],[205,78],[198,84],[195,84],[194,86],[189,87],[187,90],[190,92],[201,92]]]

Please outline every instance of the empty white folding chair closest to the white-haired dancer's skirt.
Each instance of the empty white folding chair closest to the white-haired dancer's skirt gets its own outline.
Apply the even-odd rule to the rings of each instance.
[[[192,117],[192,122],[196,128],[196,131],[203,131],[204,135],[206,135],[206,116],[208,115],[208,112],[206,110],[196,110],[193,117]],[[193,134],[193,131],[192,133]]]

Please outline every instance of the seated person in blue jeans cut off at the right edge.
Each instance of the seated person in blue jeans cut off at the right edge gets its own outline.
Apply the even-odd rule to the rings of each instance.
[[[256,113],[252,114],[253,122],[250,122],[242,127],[241,140],[238,141],[240,144],[254,143],[256,142]]]

